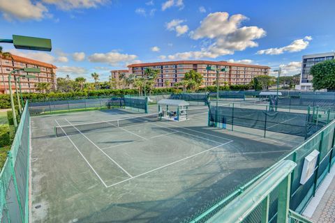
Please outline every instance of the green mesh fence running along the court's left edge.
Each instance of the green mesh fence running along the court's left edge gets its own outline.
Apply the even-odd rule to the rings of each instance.
[[[30,115],[28,101],[0,173],[1,222],[29,222]]]

